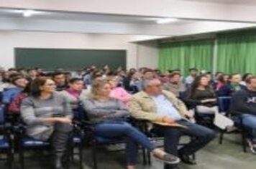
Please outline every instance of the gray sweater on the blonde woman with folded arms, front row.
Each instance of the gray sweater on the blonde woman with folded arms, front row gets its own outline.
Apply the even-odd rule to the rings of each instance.
[[[89,119],[93,122],[114,120],[129,115],[129,111],[124,103],[114,98],[110,98],[106,102],[88,98],[82,100],[82,102]]]

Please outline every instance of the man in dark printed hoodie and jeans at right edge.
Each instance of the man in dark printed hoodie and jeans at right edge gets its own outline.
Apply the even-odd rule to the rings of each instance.
[[[252,153],[256,153],[256,77],[246,79],[247,88],[239,90],[232,95],[230,112],[234,115],[235,125],[240,124],[250,131],[250,138],[247,140]]]

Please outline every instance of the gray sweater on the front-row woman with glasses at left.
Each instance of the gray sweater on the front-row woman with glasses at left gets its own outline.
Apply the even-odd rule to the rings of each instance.
[[[57,92],[47,100],[27,97],[22,102],[21,115],[27,124],[27,135],[39,140],[47,140],[53,132],[53,124],[43,122],[44,118],[56,115],[70,119],[73,117],[70,104]]]

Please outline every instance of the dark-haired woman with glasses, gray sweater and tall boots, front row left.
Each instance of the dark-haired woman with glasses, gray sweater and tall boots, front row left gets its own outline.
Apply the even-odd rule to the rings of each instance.
[[[66,168],[73,115],[65,98],[55,92],[52,79],[38,77],[32,81],[29,97],[21,105],[21,115],[29,137],[50,140],[54,155],[53,168]]]

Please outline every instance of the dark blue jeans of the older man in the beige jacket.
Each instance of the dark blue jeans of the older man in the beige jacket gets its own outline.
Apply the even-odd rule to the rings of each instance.
[[[156,125],[154,132],[164,137],[165,152],[177,155],[192,155],[197,150],[204,148],[207,143],[216,137],[214,130],[207,127],[188,122],[186,120],[177,121],[183,127],[168,127]],[[183,146],[178,150],[179,139],[181,135],[189,135],[193,137],[190,143]],[[168,165],[166,168],[175,168],[175,165]]]

